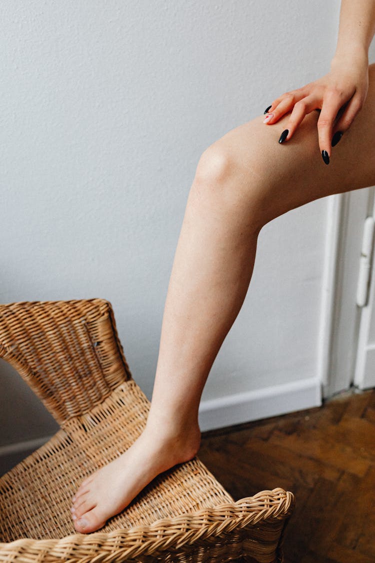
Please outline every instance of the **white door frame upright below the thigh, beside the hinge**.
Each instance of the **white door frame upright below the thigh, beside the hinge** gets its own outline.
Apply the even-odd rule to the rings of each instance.
[[[353,385],[360,309],[356,305],[363,224],[372,215],[374,188],[327,197],[318,373],[324,398]]]

